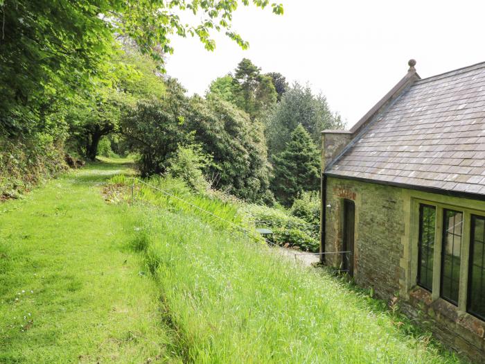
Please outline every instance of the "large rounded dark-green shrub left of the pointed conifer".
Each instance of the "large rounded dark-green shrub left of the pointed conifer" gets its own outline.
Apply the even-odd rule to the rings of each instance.
[[[213,156],[207,175],[213,187],[254,201],[264,195],[270,183],[263,125],[250,121],[245,112],[211,96],[193,98],[186,119],[188,131],[204,153]]]

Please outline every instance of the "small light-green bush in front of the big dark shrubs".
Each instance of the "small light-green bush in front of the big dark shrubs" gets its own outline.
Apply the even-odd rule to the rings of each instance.
[[[210,186],[203,171],[210,164],[211,158],[204,154],[200,144],[179,146],[167,161],[167,174],[180,178],[195,191],[204,192]]]

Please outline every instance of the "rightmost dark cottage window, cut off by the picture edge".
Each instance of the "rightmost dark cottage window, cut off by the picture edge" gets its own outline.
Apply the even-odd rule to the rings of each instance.
[[[468,312],[485,320],[485,218],[472,215],[468,264]]]

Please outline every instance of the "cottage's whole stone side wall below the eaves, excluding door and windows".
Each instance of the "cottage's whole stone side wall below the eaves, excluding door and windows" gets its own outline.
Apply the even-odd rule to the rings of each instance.
[[[417,241],[413,201],[446,202],[485,211],[485,202],[464,200],[398,187],[327,177],[326,252],[342,251],[344,199],[355,202],[354,277],[384,300],[399,295],[403,311],[428,322],[447,347],[485,364],[485,322],[416,286]],[[330,205],[330,206],[328,206]],[[413,225],[414,224],[414,225]],[[414,247],[416,245],[416,247]],[[342,254],[326,254],[338,268]]]

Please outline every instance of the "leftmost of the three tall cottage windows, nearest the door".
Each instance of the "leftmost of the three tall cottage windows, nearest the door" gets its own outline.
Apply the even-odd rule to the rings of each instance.
[[[428,291],[433,286],[434,230],[436,207],[419,205],[418,284]]]

